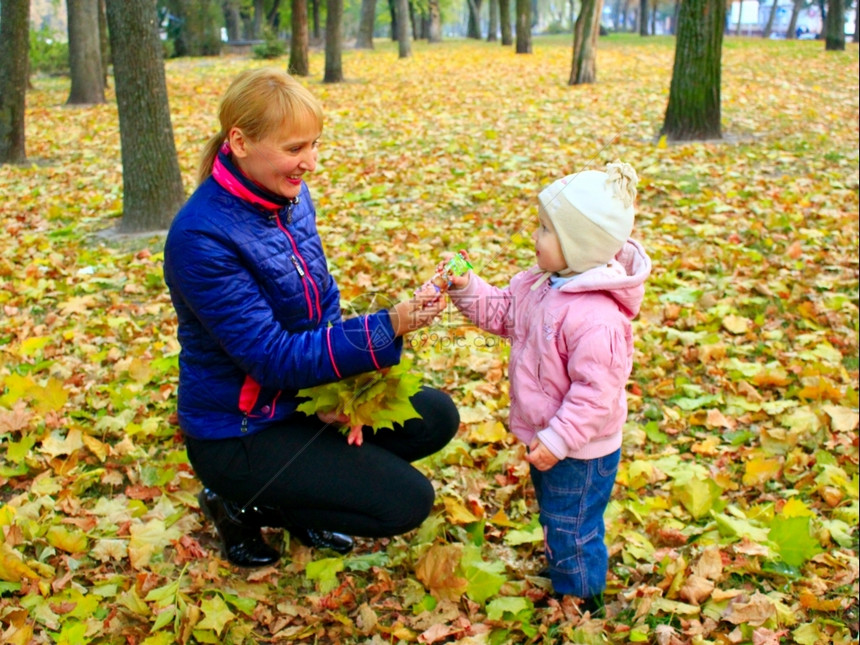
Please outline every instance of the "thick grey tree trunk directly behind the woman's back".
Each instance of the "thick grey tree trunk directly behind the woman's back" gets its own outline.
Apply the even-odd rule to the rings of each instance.
[[[185,201],[155,0],[107,0],[122,149],[119,230],[166,229]]]

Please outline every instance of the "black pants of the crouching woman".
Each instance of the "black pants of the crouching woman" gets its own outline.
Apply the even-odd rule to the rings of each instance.
[[[297,413],[247,437],[186,437],[188,458],[207,488],[242,507],[279,509],[283,526],[398,535],[419,526],[435,498],[409,462],[444,447],[460,423],[450,397],[438,390],[423,388],[412,404],[421,419],[376,433],[365,428],[361,446]]]

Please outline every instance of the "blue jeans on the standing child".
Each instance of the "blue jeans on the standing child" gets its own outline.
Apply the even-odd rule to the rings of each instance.
[[[547,471],[531,467],[546,559],[557,593],[588,598],[606,588],[609,553],[603,513],[621,450],[598,459],[563,459]]]

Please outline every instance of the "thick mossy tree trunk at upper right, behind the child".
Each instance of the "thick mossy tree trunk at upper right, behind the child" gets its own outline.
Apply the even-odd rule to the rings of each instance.
[[[669,104],[661,134],[672,141],[719,139],[724,0],[681,0]]]

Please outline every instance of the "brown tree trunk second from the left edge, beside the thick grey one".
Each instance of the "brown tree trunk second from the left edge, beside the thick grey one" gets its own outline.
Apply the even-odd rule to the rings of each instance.
[[[69,69],[72,87],[68,105],[105,102],[99,43],[99,0],[66,0]]]

